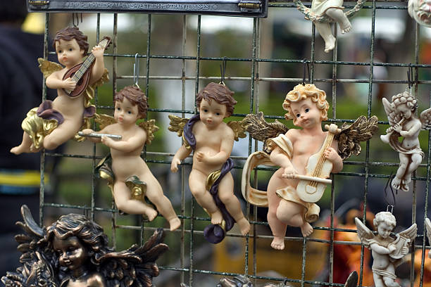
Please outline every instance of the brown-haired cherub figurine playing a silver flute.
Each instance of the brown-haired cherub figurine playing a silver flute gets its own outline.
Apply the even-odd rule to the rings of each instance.
[[[99,132],[92,129],[82,130],[82,134],[104,134],[90,137],[90,140],[111,148],[111,157],[106,158],[101,167],[102,177],[111,174],[111,184],[115,205],[123,212],[142,214],[152,221],[158,212],[168,220],[170,230],[180,227],[178,219],[169,199],[163,195],[161,185],[151,173],[145,161],[141,158],[142,148],[151,144],[154,132],[158,129],[154,120],[136,125],[137,120],[146,117],[146,96],[136,86],[128,86],[115,93],[114,117],[104,115],[105,125],[101,125]],[[109,120],[110,118],[110,120]],[[109,125],[106,125],[106,124]],[[105,134],[116,134],[121,140],[115,141]],[[111,163],[111,167],[107,165]],[[108,179],[109,180],[109,179]],[[156,209],[147,204],[144,197],[156,205]]]

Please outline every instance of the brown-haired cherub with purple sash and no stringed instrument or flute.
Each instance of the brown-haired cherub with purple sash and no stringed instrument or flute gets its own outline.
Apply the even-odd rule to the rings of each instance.
[[[198,115],[191,119],[169,116],[169,130],[184,139],[184,144],[172,159],[170,170],[177,172],[181,160],[194,151],[189,188],[199,205],[211,216],[211,225],[204,230],[205,238],[211,243],[222,241],[225,231],[229,231],[235,222],[243,235],[250,230],[239,200],[233,194],[234,181],[230,174],[234,139],[246,135],[241,123],[223,122],[225,117],[232,115],[237,103],[232,94],[223,82],[211,82],[196,96]]]

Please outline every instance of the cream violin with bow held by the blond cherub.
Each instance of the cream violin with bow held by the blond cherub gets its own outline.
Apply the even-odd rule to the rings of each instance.
[[[341,132],[341,129],[334,124],[325,125],[325,129],[328,130],[328,133],[322,147],[317,153],[308,158],[306,176],[299,174],[296,176],[299,179],[302,177],[298,186],[296,186],[296,193],[301,200],[307,203],[316,203],[316,201],[320,200],[325,191],[326,183],[332,182],[327,181],[327,177],[330,176],[332,171],[332,162],[325,158],[325,150],[331,146],[335,134]]]

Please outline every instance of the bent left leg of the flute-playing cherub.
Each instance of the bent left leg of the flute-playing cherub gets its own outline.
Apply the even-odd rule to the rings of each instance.
[[[123,181],[115,181],[113,186],[115,205],[119,210],[130,213],[131,215],[146,215],[149,221],[153,221],[157,216],[157,211],[141,200],[132,199],[130,189]]]

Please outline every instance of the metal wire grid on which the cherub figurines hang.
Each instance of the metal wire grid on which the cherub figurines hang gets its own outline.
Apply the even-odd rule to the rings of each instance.
[[[364,6],[365,9],[371,10],[371,20],[372,20],[372,30],[371,30],[371,44],[370,44],[370,60],[369,62],[349,62],[349,61],[340,61],[337,60],[337,46],[334,49],[332,60],[316,60],[315,55],[315,39],[316,39],[316,32],[315,28],[313,26],[312,30],[312,42],[311,42],[311,55],[310,60],[307,60],[306,63],[309,63],[311,66],[311,81],[312,82],[330,82],[332,84],[332,117],[330,118],[330,122],[352,122],[352,119],[341,119],[337,118],[336,115],[336,107],[337,107],[337,83],[367,83],[368,84],[368,110],[367,110],[367,116],[370,117],[372,115],[372,93],[373,93],[373,84],[384,82],[388,84],[399,84],[399,83],[407,83],[406,80],[398,79],[398,80],[382,80],[382,79],[373,79],[373,68],[375,66],[384,66],[384,67],[408,67],[412,66],[415,70],[416,79],[418,79],[418,70],[419,68],[430,68],[430,65],[424,65],[419,63],[418,58],[418,47],[419,47],[419,25],[416,24],[415,27],[415,37],[414,37],[414,46],[415,46],[415,59],[414,63],[375,63],[375,19],[376,19],[376,11],[378,9],[401,9],[406,10],[406,5],[403,3],[403,1],[390,1],[389,3],[393,6],[387,6],[387,5],[378,5],[377,3],[385,3],[387,4],[388,1],[373,1],[368,6]],[[346,8],[351,8],[353,5],[345,5]],[[296,8],[294,4],[290,2],[280,2],[280,1],[271,1],[269,4],[269,14],[271,11],[274,11],[274,9],[280,9],[280,8]],[[113,67],[112,67],[112,83],[113,83],[113,92],[117,90],[117,79],[131,79],[132,76],[130,75],[118,75],[118,59],[119,58],[131,58],[135,57],[135,55],[132,54],[119,54],[118,53],[118,15],[113,15],[113,53],[106,53],[105,56],[112,57],[113,58]],[[186,52],[186,39],[187,39],[187,21],[189,20],[189,16],[184,15],[183,18],[183,26],[182,26],[182,56],[171,56],[171,55],[158,55],[156,54],[156,51],[151,51],[151,18],[154,17],[152,15],[148,15],[148,27],[146,31],[146,54],[145,55],[138,55],[139,58],[146,60],[146,74],[144,76],[140,76],[139,79],[145,80],[145,93],[147,96],[151,97],[151,94],[149,94],[149,82],[151,79],[178,79],[182,82],[182,93],[181,93],[181,110],[173,110],[173,109],[163,109],[163,108],[149,108],[149,111],[156,112],[156,113],[182,113],[182,116],[187,116],[189,114],[193,114],[195,110],[186,110],[185,109],[185,83],[186,81],[194,81],[195,84],[195,92],[197,93],[199,91],[199,80],[201,79],[211,79],[211,80],[218,80],[220,77],[215,75],[200,75],[200,65],[201,61],[208,60],[208,61],[221,61],[226,60],[229,62],[235,62],[235,61],[246,61],[251,63],[251,71],[249,77],[226,77],[226,80],[247,80],[250,83],[250,97],[249,97],[249,112],[250,113],[257,113],[259,110],[259,84],[261,82],[301,82],[301,79],[299,78],[273,78],[273,77],[259,77],[259,68],[261,63],[294,63],[295,65],[301,66],[303,65],[303,60],[294,60],[294,59],[282,59],[282,58],[261,58],[260,57],[260,49],[261,45],[264,45],[261,43],[261,23],[264,21],[264,19],[254,18],[254,25],[253,25],[253,33],[252,33],[252,50],[251,55],[249,58],[229,58],[224,57],[223,55],[220,55],[220,57],[203,57],[201,56],[201,16],[197,16],[197,29],[196,29],[196,56],[187,56]],[[157,17],[157,16],[155,16]],[[46,14],[46,25],[45,25],[45,53],[44,57],[48,55],[47,51],[47,39],[48,39],[48,27],[49,27],[49,14]],[[99,27],[100,27],[100,14],[97,15],[97,26],[96,26],[96,38],[99,39]],[[335,27],[335,33],[337,33],[337,27]],[[153,37],[155,37],[153,35]],[[320,37],[320,36],[317,36]],[[320,47],[319,47],[320,49]],[[168,60],[182,60],[182,75],[178,77],[164,77],[164,76],[150,76],[150,68],[151,68],[151,59],[168,59]],[[186,62],[187,61],[194,61],[196,68],[195,68],[195,75],[190,76],[186,75]],[[317,65],[331,65],[332,66],[332,77],[328,79],[315,79],[315,68]],[[337,69],[340,65],[362,65],[362,66],[368,66],[370,75],[369,78],[366,80],[361,79],[338,79],[337,78]],[[430,80],[420,80],[416,81],[414,85],[414,92],[417,93],[418,91],[418,85],[419,84],[430,84]],[[330,94],[329,92],[327,94]],[[44,97],[46,96],[46,87],[44,86]],[[96,106],[98,108],[106,108],[106,106],[98,106],[98,98],[97,94],[95,96]],[[244,114],[235,114],[237,116],[244,116]],[[268,115],[269,118],[282,118],[280,116],[275,115]],[[385,121],[380,121],[380,124],[387,124]],[[428,136],[429,137],[429,136]],[[252,152],[251,148],[251,139],[249,139],[249,153]],[[431,141],[428,139],[428,150],[430,150],[431,147]],[[363,177],[365,181],[365,189],[363,193],[363,205],[364,210],[367,205],[367,195],[368,195],[368,181],[370,178],[373,177],[382,177],[382,178],[388,178],[389,176],[387,174],[372,174],[370,173],[370,167],[373,166],[395,166],[394,163],[389,162],[372,162],[370,161],[370,144],[366,144],[365,150],[362,151],[362,153],[365,153],[366,158],[364,161],[346,161],[344,162],[345,165],[361,165],[365,168],[365,172],[340,172],[339,174],[343,176],[354,176],[354,177]],[[41,188],[40,188],[40,205],[39,205],[39,222],[43,222],[44,219],[44,208],[51,207],[51,208],[75,208],[77,210],[83,210],[84,212],[89,212],[89,215],[91,219],[94,219],[94,213],[95,212],[108,212],[112,215],[112,232],[113,232],[113,245],[115,246],[115,233],[117,229],[136,229],[141,231],[141,237],[143,237],[144,229],[153,229],[151,227],[145,227],[144,223],[142,223],[141,226],[120,226],[116,222],[116,209],[115,205],[112,205],[112,208],[100,208],[97,207],[94,200],[94,194],[95,194],[95,177],[93,174],[92,177],[92,197],[91,197],[91,205],[65,205],[65,204],[58,204],[58,203],[46,203],[44,200],[45,195],[45,186],[44,186],[44,159],[46,156],[56,156],[56,157],[72,157],[72,158],[87,158],[89,160],[92,160],[93,167],[96,165],[96,160],[98,158],[96,157],[96,148],[93,146],[92,156],[88,155],[76,155],[76,154],[58,154],[58,153],[49,153],[42,151],[41,153]],[[158,162],[158,163],[165,163],[170,164],[170,158],[173,154],[170,153],[149,153],[144,150],[143,157],[146,158],[146,155],[163,155],[164,160],[147,160],[147,162]],[[245,158],[237,157],[239,159],[245,160]],[[425,164],[421,165],[422,167],[425,166]],[[168,168],[168,165],[166,165],[166,168]],[[236,166],[235,168],[241,169],[242,166]],[[261,168],[259,170],[264,170],[264,168]],[[332,175],[332,179],[335,180],[337,176]],[[256,179],[256,176],[255,176]],[[423,217],[420,215],[419,220],[424,220],[425,217],[427,217],[427,198],[428,198],[428,186],[430,181],[430,154],[427,155],[427,163],[426,163],[426,177],[413,177],[414,184],[413,184],[413,206],[412,206],[412,222],[416,222],[416,180],[420,181],[426,181],[426,191],[425,191],[425,212]],[[194,200],[192,200],[192,207],[190,210],[185,209],[185,169],[181,169],[181,190],[182,190],[182,205],[179,217],[182,219],[182,227],[179,231],[181,234],[181,246],[180,250],[170,250],[171,253],[180,253],[180,267],[169,267],[169,266],[160,266],[161,269],[168,269],[173,270],[175,272],[180,272],[181,276],[181,282],[188,283],[189,286],[193,286],[194,283],[194,274],[215,274],[215,275],[222,275],[222,276],[235,276],[238,274],[235,273],[226,273],[226,272],[214,272],[211,270],[202,270],[202,269],[195,269],[194,268],[194,236],[195,234],[201,234],[202,231],[196,230],[194,227],[194,222],[196,221],[208,221],[208,218],[201,218],[196,217],[194,215]],[[256,182],[255,182],[256,184]],[[248,236],[245,236],[246,241],[246,249],[244,253],[244,272],[246,276],[249,276],[251,279],[268,279],[268,280],[275,280],[275,281],[286,281],[287,283],[299,283],[301,287],[305,285],[322,285],[322,286],[342,286],[342,284],[339,283],[333,283],[333,264],[334,264],[334,245],[335,244],[346,244],[346,245],[358,245],[359,243],[352,243],[349,241],[335,241],[334,240],[334,234],[335,231],[347,231],[347,232],[355,232],[355,230],[351,229],[339,229],[334,227],[334,210],[335,210],[335,196],[334,196],[334,188],[332,186],[331,190],[331,199],[330,199],[330,227],[314,227],[315,229],[322,229],[325,231],[330,231],[330,240],[326,239],[320,239],[320,238],[298,238],[298,237],[287,237],[286,240],[289,241],[301,241],[302,242],[302,262],[301,262],[301,278],[300,279],[289,279],[289,278],[275,278],[275,277],[269,277],[269,276],[257,276],[257,262],[256,262],[256,251],[257,251],[257,244],[256,240],[253,241],[253,244],[251,245],[249,239],[250,238],[268,238],[270,236],[263,236],[258,235],[256,231],[256,226],[258,224],[267,224],[266,222],[258,222],[256,217],[256,207],[254,207],[254,218],[250,218],[249,210],[250,207],[247,205],[247,217],[250,219],[251,224],[253,224],[253,229],[251,230],[251,233]],[[366,214],[364,212],[363,219],[366,219]],[[189,224],[185,224],[185,222],[189,222]],[[191,240],[189,243],[185,242],[185,234],[192,234],[190,236]],[[236,237],[242,237],[240,234],[227,234],[227,236],[236,236]],[[423,272],[424,272],[424,258],[425,258],[425,236],[423,234],[418,235],[418,238],[422,239],[422,245],[416,245],[416,249],[422,250],[422,264],[420,268],[420,286],[422,286],[422,279],[423,279]],[[142,241],[144,238],[142,238]],[[323,281],[309,281],[305,279],[306,272],[306,256],[307,256],[307,243],[308,242],[319,242],[319,243],[327,243],[329,244],[329,280],[327,282]],[[189,260],[186,262],[185,258],[187,257],[186,250],[187,245],[189,249]],[[363,253],[364,248],[362,247],[361,251],[361,270],[358,270],[359,272],[359,286],[362,286],[362,278],[363,278]],[[253,264],[249,267],[249,256],[253,257]],[[414,254],[412,254],[414,258]],[[412,259],[413,262],[413,259]],[[188,277],[186,279],[186,276]],[[411,286],[413,286],[413,263],[411,265]]]

